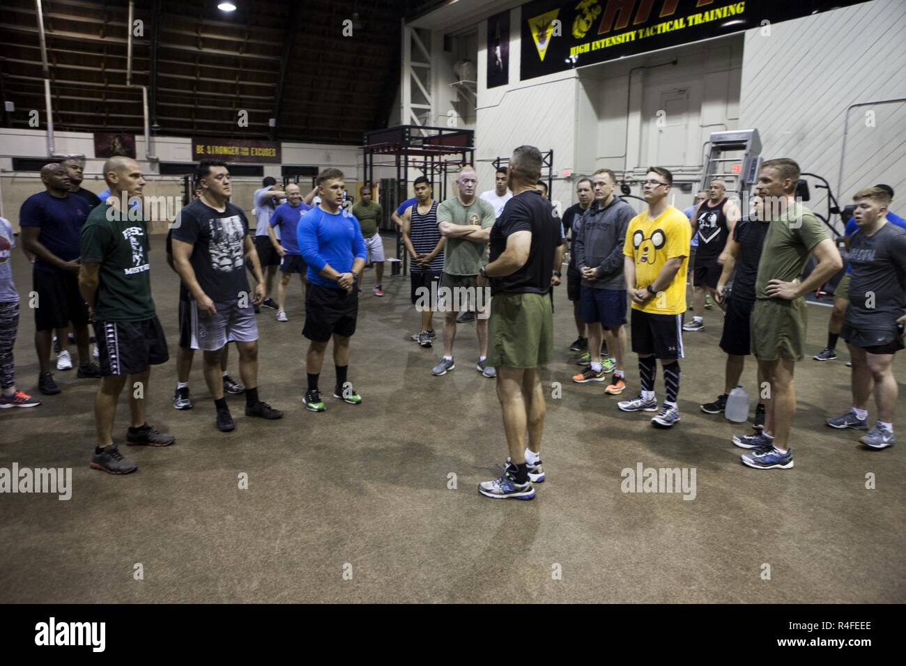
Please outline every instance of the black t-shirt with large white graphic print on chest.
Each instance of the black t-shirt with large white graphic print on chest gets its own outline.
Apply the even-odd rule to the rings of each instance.
[[[179,211],[173,237],[191,243],[190,258],[198,285],[215,303],[249,293],[245,265],[248,220],[242,208],[227,203],[222,213],[196,199]]]

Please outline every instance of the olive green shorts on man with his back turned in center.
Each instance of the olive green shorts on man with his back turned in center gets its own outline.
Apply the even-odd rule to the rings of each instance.
[[[554,357],[554,313],[547,294],[495,294],[487,322],[487,364],[537,368]]]

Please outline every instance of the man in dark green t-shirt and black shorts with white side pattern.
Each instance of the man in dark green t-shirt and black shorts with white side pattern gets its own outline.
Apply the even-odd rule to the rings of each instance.
[[[144,207],[123,210],[121,197],[140,197],[145,179],[134,159],[113,157],[104,163],[111,188],[106,206],[94,208],[82,226],[79,291],[94,322],[101,364],[101,387],[94,398],[98,444],[92,468],[129,474],[137,467],[113,443],[113,414],[129,380],[130,446],[169,446],[171,435],[145,422],[145,392],[150,366],[167,362],[167,339],[160,328],[148,262],[148,225]]]

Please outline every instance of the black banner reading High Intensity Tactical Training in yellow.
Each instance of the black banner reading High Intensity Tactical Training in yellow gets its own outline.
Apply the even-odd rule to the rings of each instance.
[[[865,0],[535,0],[522,6],[523,80],[760,28]]]

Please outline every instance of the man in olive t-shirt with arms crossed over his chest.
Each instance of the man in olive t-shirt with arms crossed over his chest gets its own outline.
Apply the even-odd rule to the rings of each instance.
[[[448,198],[438,207],[440,235],[447,238],[439,289],[439,307],[444,310],[444,355],[431,374],[439,377],[456,368],[453,342],[456,340],[457,312],[478,310],[480,313],[475,328],[480,353],[476,370],[491,378],[496,376],[496,372],[487,365],[486,313],[489,299],[484,297],[487,280],[479,278],[478,270],[487,263],[487,243],[494,226],[494,207],[477,197],[478,179],[474,167],[466,165],[459,169],[456,184],[457,196]]]

